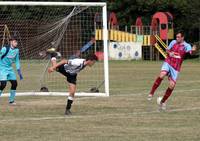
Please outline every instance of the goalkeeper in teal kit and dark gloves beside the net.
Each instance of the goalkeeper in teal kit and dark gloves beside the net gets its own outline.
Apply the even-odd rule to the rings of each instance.
[[[20,80],[23,79],[21,70],[20,70],[20,60],[19,60],[19,49],[17,48],[17,39],[11,38],[9,40],[10,44],[3,47],[0,50],[0,96],[6,87],[7,81],[11,83],[9,103],[11,105],[16,105],[15,103],[15,94],[17,88],[17,79],[12,67],[12,64],[16,64],[16,69]]]

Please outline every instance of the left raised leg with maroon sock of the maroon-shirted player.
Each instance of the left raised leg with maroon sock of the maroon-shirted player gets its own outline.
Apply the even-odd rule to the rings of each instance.
[[[161,71],[161,72],[160,72],[159,76],[158,76],[157,79],[155,80],[155,82],[154,82],[154,84],[153,84],[153,86],[152,86],[152,88],[151,88],[151,91],[150,91],[150,93],[149,93],[149,95],[148,95],[148,97],[147,97],[148,100],[152,100],[153,95],[154,95],[156,89],[160,86],[162,80],[163,80],[164,77],[167,75],[167,73],[168,73],[168,72],[166,72],[166,71]]]

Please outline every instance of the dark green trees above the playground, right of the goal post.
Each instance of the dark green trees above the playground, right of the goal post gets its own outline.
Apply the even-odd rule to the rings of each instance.
[[[108,10],[117,14],[120,25],[132,25],[138,16],[148,25],[155,12],[169,11],[174,16],[175,32],[182,29],[191,42],[199,40],[200,1],[198,0],[115,0]]]

